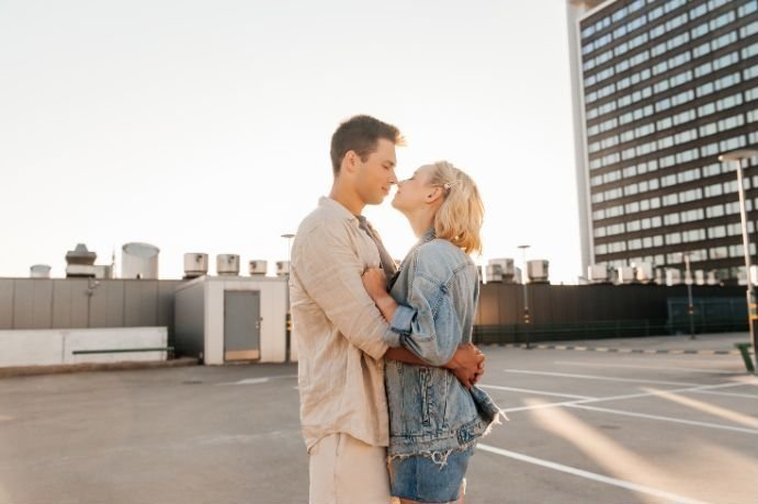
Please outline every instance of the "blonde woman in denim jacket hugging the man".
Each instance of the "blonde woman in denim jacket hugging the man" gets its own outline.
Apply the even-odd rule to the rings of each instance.
[[[393,206],[408,218],[419,241],[389,293],[381,270],[366,271],[363,283],[389,322],[387,344],[441,366],[472,340],[479,279],[468,254],[482,250],[484,206],[472,179],[444,161],[398,183]],[[468,459],[500,410],[484,391],[464,388],[439,367],[388,360],[385,383],[393,496],[463,502]]]

